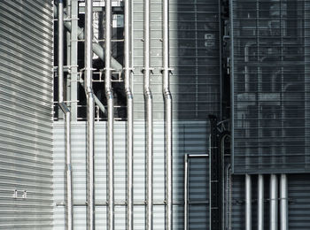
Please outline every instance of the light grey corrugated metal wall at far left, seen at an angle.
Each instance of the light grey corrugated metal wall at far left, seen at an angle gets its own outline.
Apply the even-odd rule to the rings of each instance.
[[[0,229],[52,227],[52,44],[52,1],[0,1]]]

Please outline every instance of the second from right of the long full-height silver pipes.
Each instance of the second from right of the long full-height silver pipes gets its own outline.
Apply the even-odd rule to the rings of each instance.
[[[150,0],[144,1],[144,100],[145,103],[145,117],[146,117],[146,229],[152,229],[152,211],[153,211],[153,104],[150,87],[150,73],[151,73],[151,41],[150,41]]]

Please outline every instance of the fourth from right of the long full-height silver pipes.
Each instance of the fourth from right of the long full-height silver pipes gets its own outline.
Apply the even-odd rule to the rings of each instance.
[[[112,0],[105,0],[105,96],[108,111],[107,132],[107,177],[108,177],[108,229],[114,229],[114,177],[113,177],[113,126],[114,104],[112,92],[112,50],[111,50],[111,23],[112,23]]]

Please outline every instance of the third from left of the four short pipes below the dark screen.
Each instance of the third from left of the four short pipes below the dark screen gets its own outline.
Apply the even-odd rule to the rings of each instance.
[[[278,181],[275,174],[270,175],[270,230],[278,229]]]

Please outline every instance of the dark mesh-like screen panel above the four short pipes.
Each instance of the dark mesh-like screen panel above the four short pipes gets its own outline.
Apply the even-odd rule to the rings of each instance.
[[[235,173],[309,173],[310,1],[231,0]]]

